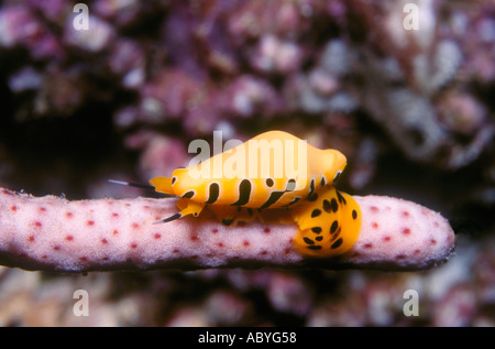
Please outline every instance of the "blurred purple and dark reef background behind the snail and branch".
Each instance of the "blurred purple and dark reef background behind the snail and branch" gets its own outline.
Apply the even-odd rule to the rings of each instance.
[[[70,199],[153,195],[194,139],[292,132],[349,161],[339,186],[441,211],[458,252],[421,273],[0,269],[0,325],[495,325],[495,7],[430,1],[4,1],[0,185]],[[87,290],[90,316],[73,314]],[[406,290],[418,317],[403,313]]]

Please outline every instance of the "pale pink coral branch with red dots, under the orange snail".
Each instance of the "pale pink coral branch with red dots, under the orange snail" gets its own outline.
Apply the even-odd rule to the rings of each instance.
[[[68,201],[0,188],[0,264],[26,270],[315,266],[418,270],[448,260],[453,231],[439,214],[402,199],[355,197],[363,227],[355,246],[333,259],[304,259],[293,225],[224,227],[204,218],[154,225],[174,199]]]

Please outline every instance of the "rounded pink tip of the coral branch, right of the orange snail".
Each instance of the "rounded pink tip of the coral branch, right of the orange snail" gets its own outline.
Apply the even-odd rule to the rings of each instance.
[[[454,233],[440,214],[392,197],[354,199],[363,211],[363,227],[351,250],[353,263],[380,264],[387,259],[400,268],[421,268],[436,264],[451,253]],[[373,233],[365,235],[365,231]]]

